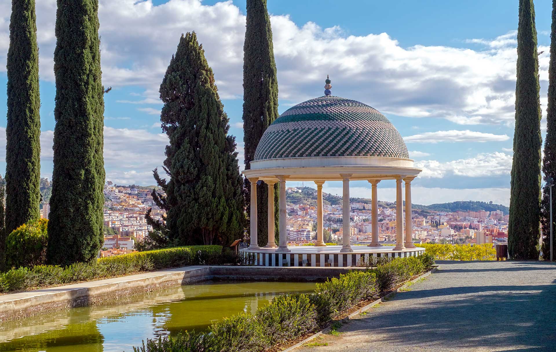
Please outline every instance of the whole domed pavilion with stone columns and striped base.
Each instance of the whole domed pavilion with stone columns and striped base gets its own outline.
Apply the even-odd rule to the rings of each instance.
[[[326,79],[325,95],[295,105],[280,115],[257,145],[250,169],[243,173],[251,183],[251,243],[242,255],[266,266],[350,266],[361,258],[408,257],[424,252],[416,248],[411,229],[411,181],[421,172],[409,159],[408,148],[393,124],[378,110],[355,100],[331,95]],[[286,180],[314,181],[317,187],[317,238],[315,246],[287,247]],[[323,241],[322,185],[342,181],[342,233],[350,234],[350,180],[371,184],[372,240],[351,246]],[[396,216],[396,245],[381,246],[378,231],[377,188],[381,180],[396,180],[396,215],[403,214],[402,183],[405,183],[404,217]],[[268,244],[257,245],[257,182],[269,186]],[[274,185],[280,185],[279,245],[275,243]]]

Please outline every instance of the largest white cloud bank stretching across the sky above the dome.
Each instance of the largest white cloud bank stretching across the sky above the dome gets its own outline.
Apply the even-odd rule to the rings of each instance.
[[[0,51],[8,47],[9,2],[0,4]],[[56,1],[37,2],[41,79],[53,81]],[[222,98],[241,97],[245,16],[231,1],[101,0],[102,71],[105,86],[140,86],[133,104],[155,104],[158,86],[180,34],[197,31]],[[385,113],[444,118],[458,124],[513,124],[515,31],[494,39],[470,39],[478,49],[401,47],[387,33],[348,36],[331,23],[301,26],[272,16],[274,51],[283,106],[322,94],[326,73],[333,92]],[[548,49],[539,47],[541,49]],[[539,57],[548,79],[548,50]],[[0,56],[4,70],[5,56]],[[542,92],[545,96],[545,92]],[[284,101],[286,100],[286,101]],[[154,113],[153,113],[154,114]]]

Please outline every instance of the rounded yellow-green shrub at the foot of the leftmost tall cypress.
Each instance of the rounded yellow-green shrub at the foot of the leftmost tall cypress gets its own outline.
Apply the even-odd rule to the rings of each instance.
[[[6,238],[8,268],[46,263],[47,225],[47,219],[33,220],[8,235]]]

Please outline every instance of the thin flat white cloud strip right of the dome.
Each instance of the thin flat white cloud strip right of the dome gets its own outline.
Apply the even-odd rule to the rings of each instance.
[[[448,130],[425,132],[404,137],[406,143],[439,143],[439,142],[503,142],[510,137],[505,134],[492,134],[471,130]]]

